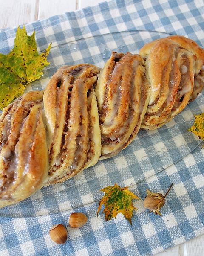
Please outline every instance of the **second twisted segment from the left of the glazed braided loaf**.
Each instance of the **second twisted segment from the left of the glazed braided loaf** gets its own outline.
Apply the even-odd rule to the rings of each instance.
[[[79,64],[60,68],[43,102],[49,134],[49,184],[67,180],[97,163],[101,132],[94,86],[99,68]]]

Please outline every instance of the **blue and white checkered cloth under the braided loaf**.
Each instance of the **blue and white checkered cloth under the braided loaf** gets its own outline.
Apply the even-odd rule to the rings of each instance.
[[[137,53],[145,43],[168,35],[184,35],[204,47],[204,3],[117,0],[37,21],[26,29],[36,31],[39,51],[52,42],[50,66],[27,87],[41,90],[64,64],[87,62],[103,67],[113,50]],[[15,31],[0,31],[0,52],[12,49]],[[147,256],[203,234],[204,150],[201,140],[187,131],[193,115],[201,112],[202,93],[167,125],[139,131],[116,157],[0,209],[0,255]],[[149,214],[142,200],[133,202],[138,211],[130,226],[120,214],[111,221],[105,221],[102,213],[96,217],[103,195],[99,189],[114,183],[130,186],[143,199],[146,189],[165,193],[171,183],[174,186],[161,209],[162,217]],[[84,212],[88,223],[68,227],[68,241],[54,244],[49,228],[59,223],[67,226],[71,212]]]

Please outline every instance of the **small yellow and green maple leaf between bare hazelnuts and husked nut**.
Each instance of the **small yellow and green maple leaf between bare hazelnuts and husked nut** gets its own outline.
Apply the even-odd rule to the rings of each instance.
[[[128,190],[128,187],[121,188],[117,184],[114,186],[107,186],[100,191],[105,192],[105,195],[99,202],[97,215],[102,207],[102,204],[104,204],[105,209],[103,210],[103,213],[105,213],[106,221],[111,220],[113,217],[116,218],[116,215],[121,212],[132,225],[131,218],[133,215],[133,209],[136,209],[133,206],[132,199],[140,198]]]

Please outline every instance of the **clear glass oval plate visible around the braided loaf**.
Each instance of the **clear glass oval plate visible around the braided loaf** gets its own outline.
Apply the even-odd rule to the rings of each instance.
[[[43,33],[46,35],[46,27]],[[39,33],[39,32],[38,32]],[[103,67],[112,51],[138,53],[149,41],[168,34],[152,31],[115,32],[77,41],[53,41],[44,75],[26,88],[42,90],[59,67],[67,64],[91,63]],[[40,35],[39,35],[40,37]],[[66,38],[66,36],[65,36]],[[99,190],[118,183],[131,186],[155,175],[190,154],[201,140],[187,131],[193,125],[193,115],[204,112],[204,95],[179,113],[172,121],[154,131],[141,129],[133,142],[115,157],[99,160],[74,178],[44,187],[28,199],[0,209],[0,216],[39,216],[74,209],[101,198]]]

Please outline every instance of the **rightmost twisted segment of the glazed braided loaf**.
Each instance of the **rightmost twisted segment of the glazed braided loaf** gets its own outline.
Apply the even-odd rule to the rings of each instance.
[[[170,36],[144,45],[150,102],[141,127],[156,129],[181,112],[204,86],[204,50],[182,36]]]

